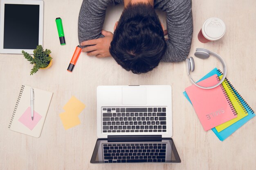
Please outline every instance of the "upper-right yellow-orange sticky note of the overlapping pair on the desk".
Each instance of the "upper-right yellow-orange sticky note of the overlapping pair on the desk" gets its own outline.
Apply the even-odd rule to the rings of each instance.
[[[70,100],[66,103],[66,105],[63,107],[63,109],[66,112],[70,112],[74,115],[79,115],[84,108],[85,105],[75,96],[72,96]]]

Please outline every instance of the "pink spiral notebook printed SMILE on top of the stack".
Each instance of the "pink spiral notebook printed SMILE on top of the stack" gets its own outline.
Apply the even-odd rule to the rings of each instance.
[[[215,74],[198,84],[209,87],[216,85],[218,81]],[[191,85],[185,90],[205,131],[237,117],[221,85],[213,89],[200,89]]]

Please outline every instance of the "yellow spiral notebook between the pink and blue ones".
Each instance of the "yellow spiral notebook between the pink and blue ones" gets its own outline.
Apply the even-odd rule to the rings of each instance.
[[[219,78],[222,78],[222,75],[219,76]],[[236,123],[238,120],[244,118],[245,116],[248,115],[247,111],[245,110],[245,108],[243,107],[242,103],[239,101],[239,99],[237,98],[236,94],[234,94],[233,90],[231,89],[229,83],[227,82],[227,79],[225,78],[225,80],[222,82],[222,86],[225,89],[225,92],[227,94],[227,96],[229,97],[229,100],[231,101],[234,109],[236,110],[237,113],[237,117],[234,119],[231,119],[225,123],[222,123],[218,126],[216,126],[216,130],[218,132],[226,129],[228,126],[230,126],[231,124]]]

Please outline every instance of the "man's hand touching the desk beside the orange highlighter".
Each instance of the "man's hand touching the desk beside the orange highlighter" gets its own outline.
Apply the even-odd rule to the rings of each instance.
[[[81,42],[81,46],[88,46],[83,48],[82,52],[88,52],[88,56],[96,56],[99,58],[110,57],[109,47],[113,39],[113,34],[105,30],[102,30],[101,34],[105,37]]]

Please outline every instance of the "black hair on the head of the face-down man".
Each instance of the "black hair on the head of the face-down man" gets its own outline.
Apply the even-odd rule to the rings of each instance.
[[[119,65],[135,74],[157,67],[166,51],[166,41],[159,18],[150,4],[128,4],[119,19],[109,51]]]

